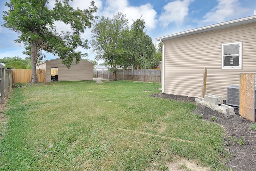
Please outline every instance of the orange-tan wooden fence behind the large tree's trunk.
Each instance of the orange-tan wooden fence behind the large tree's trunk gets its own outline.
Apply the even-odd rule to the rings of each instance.
[[[32,70],[12,70],[13,72],[13,84],[28,83],[31,80]],[[38,82],[45,83],[45,70],[36,70]]]

